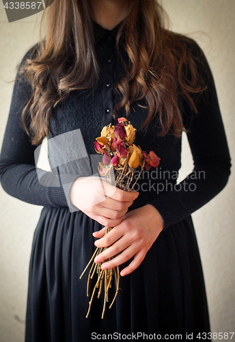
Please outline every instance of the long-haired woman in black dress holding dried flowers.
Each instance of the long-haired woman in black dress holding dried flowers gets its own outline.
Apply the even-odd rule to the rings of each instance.
[[[18,69],[1,152],[5,191],[44,206],[33,237],[25,341],[135,340],[138,332],[139,340],[181,334],[184,341],[199,332],[210,340],[191,213],[225,187],[230,154],[206,58],[193,40],[164,28],[155,0],[55,0],[48,10],[46,38]],[[41,184],[34,151],[44,137],[80,129],[94,155],[102,127],[123,116],[137,129],[136,144],[161,158],[158,176],[145,172],[138,192],[107,183],[110,196],[98,203],[98,177]],[[176,185],[182,131],[195,168]],[[104,236],[103,226],[114,228]],[[96,246],[109,246],[96,263],[118,254],[102,268],[122,269],[122,291],[104,319],[102,298],[85,318],[86,279],[79,279],[96,248],[92,233]]]

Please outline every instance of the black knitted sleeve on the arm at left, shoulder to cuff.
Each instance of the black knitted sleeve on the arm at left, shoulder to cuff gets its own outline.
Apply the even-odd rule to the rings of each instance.
[[[23,64],[30,55],[23,57]],[[24,77],[16,75],[10,114],[5,129],[0,157],[0,180],[5,192],[33,205],[49,207],[68,206],[62,187],[40,184],[30,138],[22,127],[20,116],[31,96],[31,86]]]

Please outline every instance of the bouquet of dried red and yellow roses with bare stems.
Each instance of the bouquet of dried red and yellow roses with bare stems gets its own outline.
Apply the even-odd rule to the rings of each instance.
[[[133,189],[144,167],[146,167],[146,170],[150,170],[151,166],[156,168],[160,161],[160,158],[158,158],[153,151],[150,151],[147,155],[146,151],[142,151],[139,146],[134,144],[135,131],[136,129],[132,124],[130,124],[130,121],[126,118],[119,118],[118,124],[115,126],[108,124],[103,127],[100,137],[96,137],[96,142],[94,142],[96,152],[103,154],[102,162],[100,162],[98,166],[100,176],[105,177],[105,179],[110,181],[111,184],[124,191],[131,191]],[[133,182],[133,176],[136,169],[139,167],[141,168],[139,176],[135,182]],[[112,227],[107,227],[105,234],[109,233],[111,229]],[[89,280],[94,277],[94,274],[97,274],[98,278],[92,292],[91,300],[89,301],[89,308],[86,317],[89,315],[96,288],[98,289],[98,298],[100,298],[102,284],[104,284],[105,298],[102,318],[104,317],[106,303],[109,301],[109,288],[111,287],[111,281],[114,278],[116,291],[109,308],[111,308],[118,295],[120,284],[119,267],[101,269],[102,263],[94,263],[94,258],[105,249],[107,249],[107,247],[96,248],[92,258],[80,276],[80,278],[82,278],[83,274],[93,261],[92,266],[89,269],[87,279],[87,297],[89,297]]]

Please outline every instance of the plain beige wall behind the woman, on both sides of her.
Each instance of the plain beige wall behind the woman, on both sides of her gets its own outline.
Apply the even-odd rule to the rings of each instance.
[[[163,0],[171,29],[189,34],[204,50],[215,77],[232,159],[235,160],[235,2],[234,0]],[[8,23],[0,1],[0,142],[10,109],[18,64],[38,41],[41,14]],[[182,174],[192,169],[184,137]],[[212,332],[235,327],[234,174],[219,195],[193,214],[201,252]],[[8,196],[0,189],[0,341],[23,342],[27,277],[33,230],[41,207]],[[235,337],[234,337],[235,339]]]

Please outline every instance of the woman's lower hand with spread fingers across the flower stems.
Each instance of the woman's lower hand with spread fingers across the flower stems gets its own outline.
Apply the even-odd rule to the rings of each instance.
[[[145,205],[126,213],[124,220],[115,226],[107,235],[105,228],[93,233],[97,247],[108,247],[95,258],[95,263],[105,261],[116,254],[117,257],[102,264],[102,269],[122,265],[135,255],[128,267],[122,269],[121,276],[126,276],[136,269],[143,261],[146,253],[163,230],[163,218],[152,205]]]

